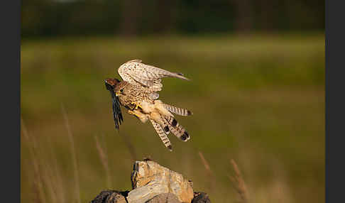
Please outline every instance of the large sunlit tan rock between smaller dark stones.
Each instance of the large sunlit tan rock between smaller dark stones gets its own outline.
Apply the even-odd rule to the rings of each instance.
[[[131,181],[128,203],[146,202],[162,193],[175,194],[180,202],[190,203],[194,197],[191,181],[151,160],[134,163]]]

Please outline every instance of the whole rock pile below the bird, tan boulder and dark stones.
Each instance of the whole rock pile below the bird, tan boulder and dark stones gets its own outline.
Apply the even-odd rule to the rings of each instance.
[[[90,203],[210,203],[204,192],[194,192],[193,183],[180,173],[152,160],[136,161],[131,191],[106,190]]]

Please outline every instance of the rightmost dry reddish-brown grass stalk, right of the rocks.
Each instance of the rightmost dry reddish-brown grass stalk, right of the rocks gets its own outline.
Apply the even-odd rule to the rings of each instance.
[[[233,159],[230,160],[230,163],[232,167],[234,168],[235,176],[234,177],[229,176],[229,179],[231,180],[231,182],[233,182],[234,187],[236,191],[239,193],[242,201],[248,202],[248,190],[243,180],[241,171],[239,170],[239,167],[237,166],[236,162]]]

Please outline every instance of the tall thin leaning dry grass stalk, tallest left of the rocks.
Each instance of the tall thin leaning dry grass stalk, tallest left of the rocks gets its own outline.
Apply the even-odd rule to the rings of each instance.
[[[70,146],[72,150],[72,161],[73,161],[73,168],[75,174],[75,197],[77,198],[77,203],[80,203],[80,185],[79,185],[79,173],[78,173],[78,166],[77,166],[77,156],[75,153],[75,141],[73,140],[73,135],[70,130],[70,124],[68,122],[68,117],[65,111],[65,107],[61,104],[61,111],[65,119],[65,125],[67,128],[68,138],[70,139]]]

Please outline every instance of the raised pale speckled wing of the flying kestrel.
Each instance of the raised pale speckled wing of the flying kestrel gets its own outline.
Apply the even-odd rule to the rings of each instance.
[[[130,60],[119,67],[119,75],[124,81],[131,84],[140,84],[147,87],[148,94],[158,98],[158,91],[162,90],[161,83],[163,77],[177,77],[180,79],[187,79],[181,73],[169,72],[159,67],[146,65],[141,60]],[[187,79],[189,80],[189,79]]]

